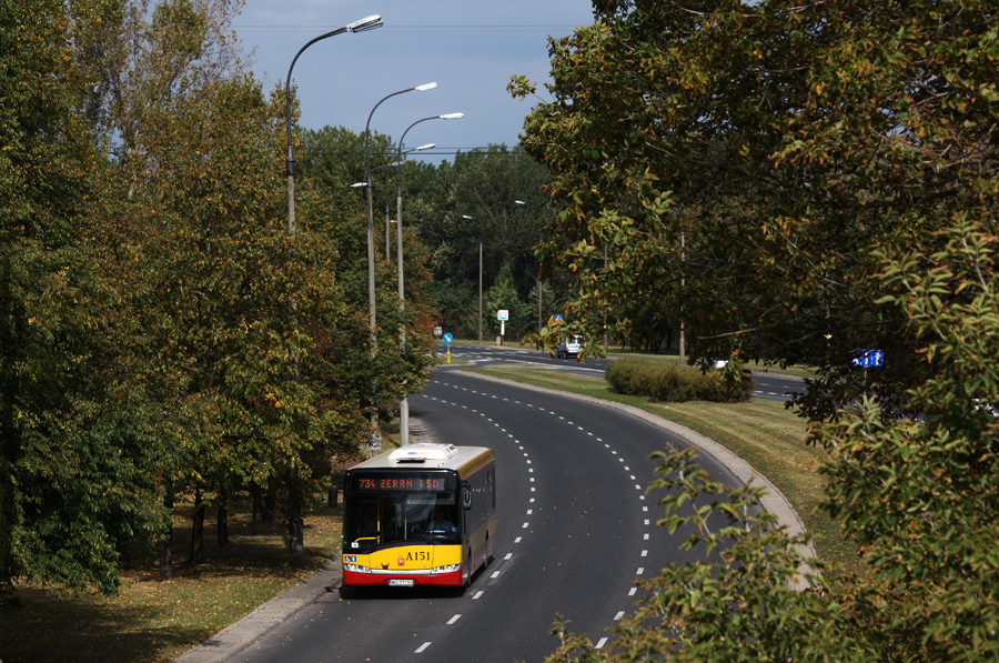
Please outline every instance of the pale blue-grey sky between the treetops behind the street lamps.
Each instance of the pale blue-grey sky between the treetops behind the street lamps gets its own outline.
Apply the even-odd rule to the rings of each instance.
[[[533,103],[509,97],[509,77],[547,80],[548,34],[593,22],[589,0],[246,0],[234,28],[244,51],[255,49],[253,71],[270,89],[310,39],[370,14],[381,14],[384,27],[316,42],[299,58],[292,78],[300,125],[361,133],[380,99],[434,81],[434,90],[389,99],[371,121],[397,139],[422,118],[465,113],[406,135],[407,148],[436,143],[434,154],[422,157],[432,162],[453,160],[456,149],[515,144]]]

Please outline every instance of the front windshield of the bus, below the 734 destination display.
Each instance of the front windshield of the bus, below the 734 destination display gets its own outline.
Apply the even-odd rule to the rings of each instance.
[[[344,551],[365,553],[387,545],[461,541],[454,493],[367,493],[345,505]]]

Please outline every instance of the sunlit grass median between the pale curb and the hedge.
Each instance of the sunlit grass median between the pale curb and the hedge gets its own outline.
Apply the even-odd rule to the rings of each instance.
[[[602,378],[529,368],[465,370],[640,408],[710,438],[751,464],[784,493],[815,538],[820,560],[847,571],[862,571],[856,548],[841,536],[837,523],[818,510],[824,480],[813,469],[823,451],[805,444],[806,423],[783,403],[754,399],[748,403],[667,404],[614,393]]]

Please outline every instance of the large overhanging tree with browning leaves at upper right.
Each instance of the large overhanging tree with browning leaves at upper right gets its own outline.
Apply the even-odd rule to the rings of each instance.
[[[877,254],[961,213],[995,228],[993,10],[598,3],[552,42],[523,139],[565,210],[544,253],[574,277],[583,335],[683,320],[697,358],[818,366],[811,419],[862,394],[904,412],[926,366],[878,303]],[[854,370],[872,348],[886,365]]]

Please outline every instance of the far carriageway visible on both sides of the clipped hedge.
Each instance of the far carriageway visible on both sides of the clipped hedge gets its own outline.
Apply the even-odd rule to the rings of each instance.
[[[437,344],[437,352],[444,355],[447,350],[443,343]],[[451,345],[451,355],[454,360],[466,361],[482,366],[523,363],[539,364],[543,366],[557,369],[566,373],[577,375],[591,375],[594,378],[603,378],[604,370],[613,360],[586,358],[585,362],[577,362],[574,359],[556,359],[547,352],[538,352],[535,350],[525,350],[519,346],[495,348],[488,345]],[[791,398],[794,392],[804,392],[805,382],[800,378],[791,378],[788,375],[777,375],[765,372],[754,372],[753,378],[756,380],[756,389],[753,395],[757,399],[766,401],[786,402]]]

